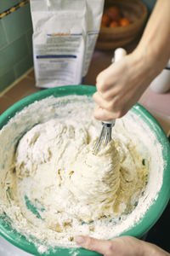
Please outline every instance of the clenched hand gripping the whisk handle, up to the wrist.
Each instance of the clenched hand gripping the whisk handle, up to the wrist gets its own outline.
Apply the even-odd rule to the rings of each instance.
[[[96,79],[94,117],[104,121],[122,117],[138,102],[154,77],[150,61],[138,50],[111,64]]]

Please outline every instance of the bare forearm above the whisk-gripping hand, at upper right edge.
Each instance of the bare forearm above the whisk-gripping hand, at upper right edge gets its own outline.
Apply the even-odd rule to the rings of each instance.
[[[136,50],[142,52],[156,74],[166,66],[170,58],[169,0],[157,0]]]

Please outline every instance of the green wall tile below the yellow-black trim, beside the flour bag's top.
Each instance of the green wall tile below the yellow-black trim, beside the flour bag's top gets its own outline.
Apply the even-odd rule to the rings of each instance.
[[[5,16],[3,22],[9,43],[20,38],[32,27],[30,4],[26,3],[20,9],[14,11],[14,13]]]

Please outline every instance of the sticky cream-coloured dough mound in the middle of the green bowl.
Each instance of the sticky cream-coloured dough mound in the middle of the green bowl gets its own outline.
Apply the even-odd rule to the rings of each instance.
[[[51,119],[20,139],[15,193],[31,222],[27,200],[39,209],[36,217],[58,232],[72,218],[89,223],[133,210],[146,182],[142,160],[130,141],[124,144],[118,137],[94,155],[91,129],[90,121],[84,127]]]

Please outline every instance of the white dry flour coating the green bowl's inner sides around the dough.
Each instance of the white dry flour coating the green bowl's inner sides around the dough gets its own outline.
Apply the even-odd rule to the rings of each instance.
[[[150,131],[149,126],[142,121],[140,116],[129,112],[122,119],[116,120],[116,127],[114,128],[115,135],[119,137],[125,145],[129,143],[132,143],[132,145],[135,144],[139,154],[149,163],[150,169],[150,176],[144,195],[140,197],[138,206],[135,207],[133,212],[123,214],[120,221],[115,220],[114,222],[109,222],[107,219],[102,218],[95,220],[92,224],[80,225],[80,222],[74,218],[71,224],[72,228],[69,224],[70,220],[68,219],[68,215],[61,214],[59,219],[58,214],[58,222],[63,223],[63,219],[65,218],[65,224],[68,225],[67,232],[63,235],[62,232],[59,233],[56,232],[56,230],[47,229],[46,224],[42,223],[41,218],[38,219],[35,214],[31,212],[28,213],[29,211],[26,212],[25,208],[19,207],[17,201],[11,200],[7,190],[9,187],[15,187],[15,173],[13,174],[14,166],[12,165],[12,163],[14,163],[15,147],[26,131],[31,130],[32,126],[38,123],[44,123],[49,119],[57,118],[61,122],[64,122],[65,119],[69,119],[71,122],[71,119],[74,119],[74,122],[76,121],[77,124],[86,124],[88,119],[90,135],[91,137],[96,137],[99,135],[101,124],[92,118],[93,109],[94,102],[87,96],[66,96],[62,98],[54,98],[51,96],[40,102],[34,102],[29,107],[24,108],[20,113],[17,113],[14,118],[10,119],[8,125],[5,125],[3,130],[0,131],[0,140],[3,145],[3,147],[0,148],[0,162],[2,163],[0,166],[0,181],[2,183],[0,186],[0,195],[2,196],[0,211],[6,212],[8,217],[13,220],[14,228],[24,234],[29,240],[31,240],[30,236],[36,236],[40,240],[40,243],[37,242],[39,252],[43,253],[44,250],[46,250],[46,246],[54,247],[60,245],[65,247],[77,247],[74,241],[70,241],[71,237],[76,235],[88,235],[100,239],[109,239],[119,236],[122,232],[130,230],[140,221],[153,201],[156,200],[157,193],[161,189],[163,173],[161,145],[156,143],[154,132]],[[36,137],[32,139],[36,140]],[[49,155],[49,152],[47,152],[47,158]],[[29,165],[29,162],[27,162],[27,164]],[[26,170],[28,169],[27,166]],[[34,170],[34,166],[31,170]],[[19,175],[22,176],[22,173]],[[28,173],[28,176],[29,175],[30,173]],[[31,191],[29,188],[29,178],[30,177],[27,177],[28,182],[25,183],[25,187],[23,187],[26,192]],[[44,183],[50,183],[50,178],[52,177],[49,176],[48,180],[44,180]],[[12,192],[15,197],[17,191],[13,189]],[[44,191],[42,190],[40,193],[41,192],[43,193]],[[27,196],[29,198],[31,195]],[[65,194],[65,196],[68,195]],[[48,200],[50,206],[50,198]],[[52,196],[51,200],[54,201],[54,196]],[[23,203],[23,205],[24,204],[25,203]],[[39,201],[37,201],[37,208],[42,208]],[[23,212],[26,214],[26,218],[24,218]],[[30,215],[28,216],[28,214]],[[37,225],[31,222],[37,223]],[[46,241],[46,243],[44,244],[43,241]]]

